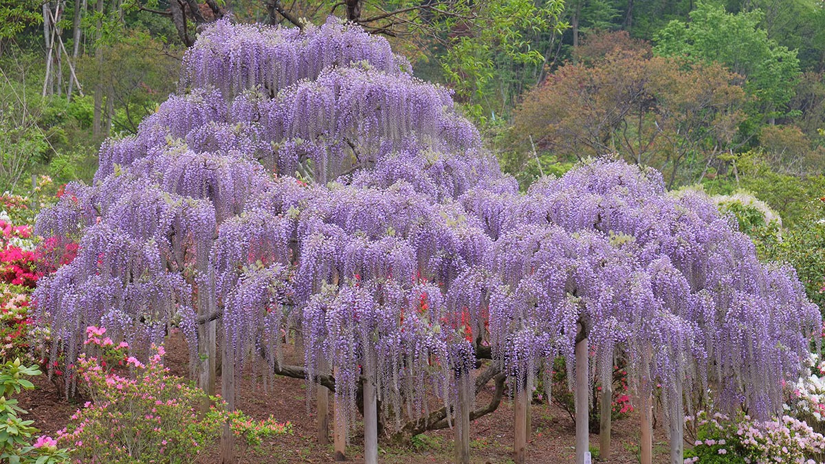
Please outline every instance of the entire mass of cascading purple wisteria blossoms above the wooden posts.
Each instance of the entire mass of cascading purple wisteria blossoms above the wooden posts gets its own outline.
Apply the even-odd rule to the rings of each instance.
[[[589,161],[520,194],[450,92],[335,20],[210,26],[178,94],[66,192],[37,221],[80,244],[35,292],[52,357],[88,325],[148,346],[175,323],[196,365],[219,324],[238,365],[274,367],[299,328],[348,414],[361,376],[415,419],[479,346],[518,389],[556,356],[572,374],[585,336],[602,378],[628,353],[639,396],[767,415],[821,324],[792,269],[653,170]]]

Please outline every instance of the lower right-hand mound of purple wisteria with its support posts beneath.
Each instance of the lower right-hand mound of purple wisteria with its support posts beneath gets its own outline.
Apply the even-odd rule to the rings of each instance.
[[[672,462],[682,459],[683,398],[712,391],[718,407],[761,417],[780,408],[781,381],[799,372],[820,315],[793,269],[759,263],[704,194],[672,196],[655,170],[601,160],[537,182],[526,196],[462,200],[501,234],[487,303],[494,352],[504,348],[498,357],[513,357],[529,384],[535,366],[557,354],[586,369],[580,343],[589,341],[607,386],[620,350],[648,440],[643,462],[654,386],[668,405]],[[578,389],[588,377],[576,373]],[[587,390],[578,393],[577,410],[587,411]],[[586,432],[587,414],[577,414],[577,436]],[[587,443],[577,450],[582,462]]]

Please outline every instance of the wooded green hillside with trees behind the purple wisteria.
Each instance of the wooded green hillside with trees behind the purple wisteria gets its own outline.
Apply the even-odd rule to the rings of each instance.
[[[91,182],[101,141],[175,91],[199,26],[329,14],[451,88],[522,186],[587,157],[658,168],[823,307],[822,0],[0,0],[0,192]]]

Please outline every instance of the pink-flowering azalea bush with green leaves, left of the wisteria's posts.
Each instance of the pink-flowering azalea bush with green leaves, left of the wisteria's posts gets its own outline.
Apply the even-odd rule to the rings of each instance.
[[[102,348],[102,357],[78,359],[80,380],[91,401],[58,433],[58,442],[73,448],[77,462],[193,462],[226,422],[249,444],[291,431],[290,424],[272,418],[254,421],[239,411],[226,412],[219,397],[208,397],[191,382],[169,374],[162,346],[153,345],[152,356],[141,362],[125,353],[128,345],[108,339],[105,328],[89,327],[87,343]],[[115,363],[117,356],[120,361]],[[208,400],[214,405],[201,414],[200,405]]]

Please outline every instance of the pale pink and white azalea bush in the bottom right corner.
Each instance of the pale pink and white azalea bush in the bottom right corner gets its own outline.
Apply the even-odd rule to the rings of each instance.
[[[825,437],[789,415],[757,421],[740,414],[732,420],[700,411],[686,422],[693,423],[695,442],[685,450],[685,464],[816,464],[813,457],[825,451]]]

